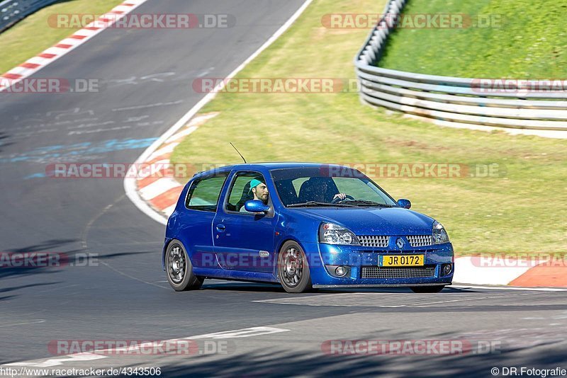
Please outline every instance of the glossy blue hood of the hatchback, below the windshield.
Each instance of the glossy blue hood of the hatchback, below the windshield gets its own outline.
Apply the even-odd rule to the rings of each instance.
[[[434,219],[402,207],[302,208],[295,212],[334,222],[357,235],[428,235]]]

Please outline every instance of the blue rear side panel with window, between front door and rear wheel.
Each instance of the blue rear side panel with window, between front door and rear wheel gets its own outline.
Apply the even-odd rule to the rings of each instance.
[[[196,178],[187,190],[185,209],[179,215],[180,234],[196,268],[218,268],[213,249],[213,220],[229,173]]]

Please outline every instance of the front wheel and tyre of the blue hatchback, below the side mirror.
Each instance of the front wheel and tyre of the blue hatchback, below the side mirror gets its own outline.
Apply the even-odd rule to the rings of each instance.
[[[278,277],[283,290],[290,293],[313,290],[309,263],[295,241],[286,241],[278,254]]]

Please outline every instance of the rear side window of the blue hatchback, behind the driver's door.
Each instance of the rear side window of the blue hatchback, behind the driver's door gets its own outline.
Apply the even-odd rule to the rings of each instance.
[[[215,212],[217,210],[218,197],[220,197],[220,192],[223,190],[227,176],[228,172],[218,173],[215,176],[201,178],[191,183],[185,206],[191,210]]]

